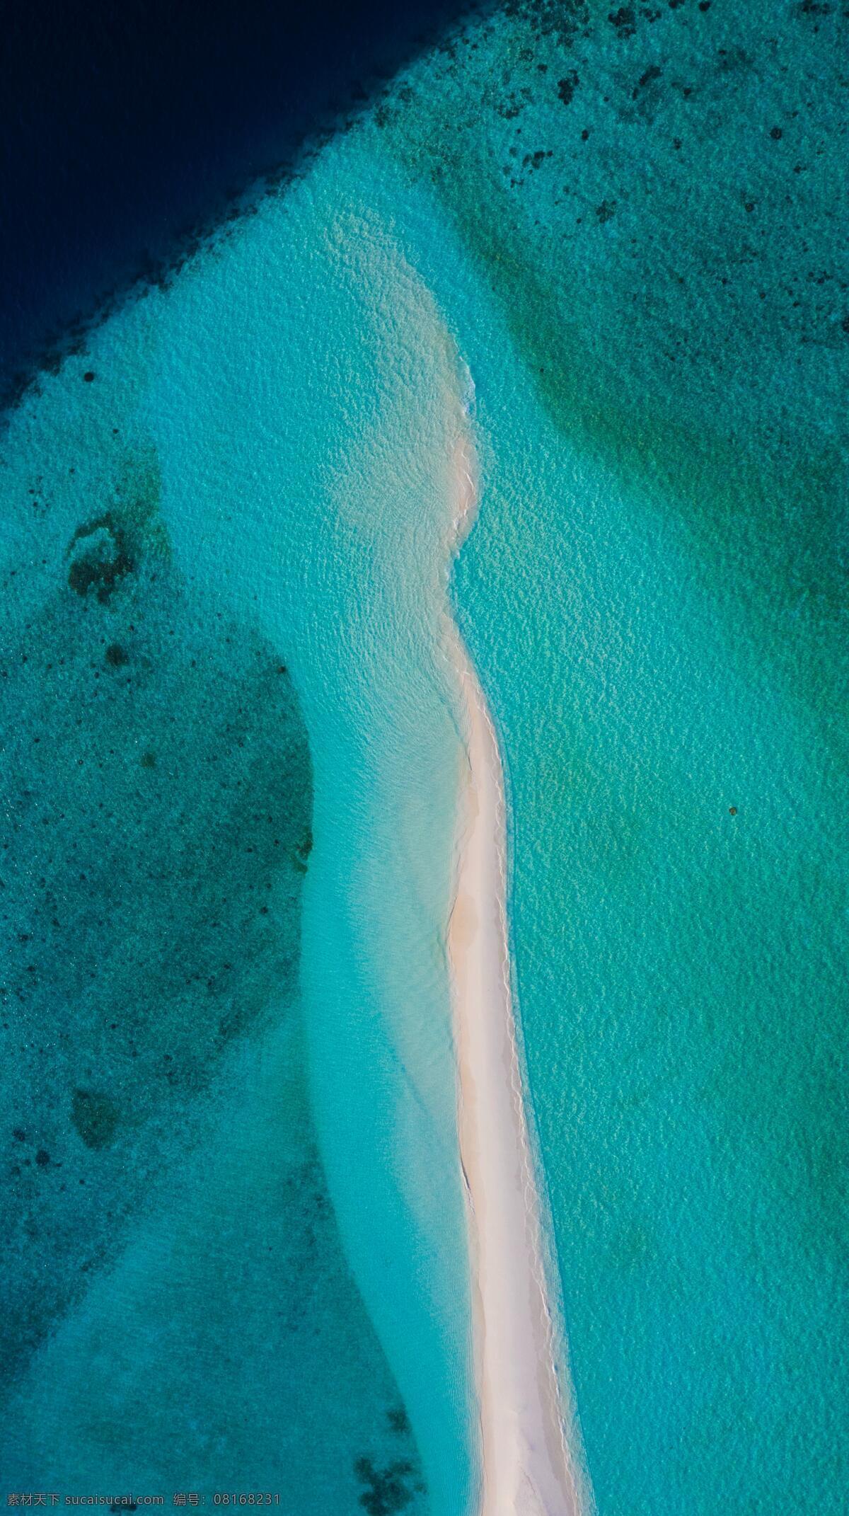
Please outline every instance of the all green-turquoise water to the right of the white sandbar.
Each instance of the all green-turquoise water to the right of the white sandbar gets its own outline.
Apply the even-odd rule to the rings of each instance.
[[[517,5],[385,111],[491,302],[456,600],[602,1513],[846,1508],[844,24]]]

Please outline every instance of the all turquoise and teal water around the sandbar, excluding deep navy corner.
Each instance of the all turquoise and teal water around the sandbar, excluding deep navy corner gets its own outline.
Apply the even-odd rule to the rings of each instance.
[[[497,11],[9,417],[15,1487],[473,1507],[473,387],[597,1510],[846,1510],[843,26]]]

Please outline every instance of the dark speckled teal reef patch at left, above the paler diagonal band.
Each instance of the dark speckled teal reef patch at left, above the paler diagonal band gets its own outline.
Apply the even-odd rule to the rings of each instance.
[[[291,1014],[303,719],[279,652],[171,562],[158,493],[115,443],[61,572],[5,584],[6,1373],[115,1257],[232,1045]]]

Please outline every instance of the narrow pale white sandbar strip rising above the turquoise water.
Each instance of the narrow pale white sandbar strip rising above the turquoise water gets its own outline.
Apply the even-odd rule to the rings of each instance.
[[[455,549],[476,511],[475,456],[455,453]],[[564,1424],[525,1117],[506,931],[506,817],[494,726],[450,615],[465,761],[449,922],[459,1146],[471,1255],[481,1410],[481,1516],[585,1516]]]

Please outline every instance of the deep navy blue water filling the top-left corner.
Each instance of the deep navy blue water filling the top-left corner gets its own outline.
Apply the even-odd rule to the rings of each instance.
[[[3,8],[0,400],[337,126],[458,0]]]

